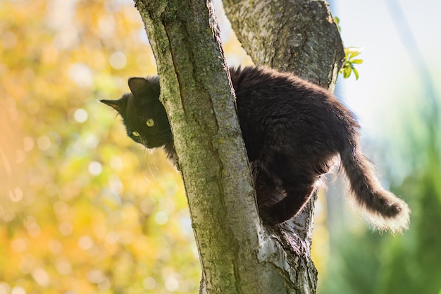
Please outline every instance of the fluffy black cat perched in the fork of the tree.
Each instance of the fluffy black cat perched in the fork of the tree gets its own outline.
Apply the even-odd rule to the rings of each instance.
[[[328,90],[292,73],[262,67],[231,68],[237,112],[249,161],[256,169],[259,211],[267,223],[295,216],[320,177],[340,155],[356,203],[380,229],[401,231],[409,208],[385,190],[359,149],[359,125]],[[159,102],[159,79],[130,78],[131,93],[101,100],[123,117],[128,135],[147,148],[164,147],[175,159],[166,110]],[[259,199],[285,193],[275,204]]]

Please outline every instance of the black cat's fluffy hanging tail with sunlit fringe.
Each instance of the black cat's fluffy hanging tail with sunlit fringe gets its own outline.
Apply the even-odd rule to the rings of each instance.
[[[409,227],[410,210],[406,202],[380,184],[371,162],[354,145],[340,152],[354,200],[366,217],[380,230],[392,233]]]

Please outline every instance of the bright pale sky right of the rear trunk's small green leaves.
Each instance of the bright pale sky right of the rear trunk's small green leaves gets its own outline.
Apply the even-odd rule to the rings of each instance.
[[[403,104],[412,104],[401,99],[409,98],[404,97],[409,92],[415,92],[414,102],[424,99],[420,77],[399,37],[387,2],[401,5],[435,84],[440,74],[440,1],[333,0],[331,10],[340,18],[344,45],[364,48],[359,80],[339,79],[341,87],[336,94],[358,114],[365,133],[381,132],[384,116],[394,116]]]

